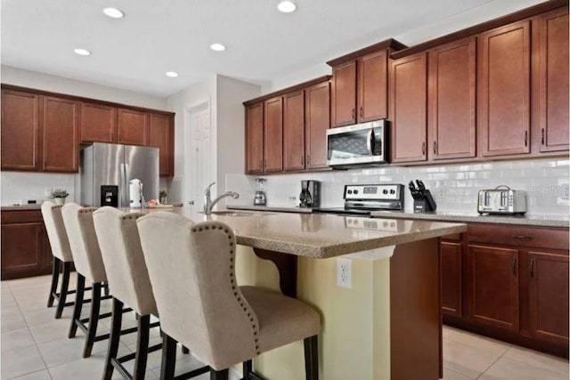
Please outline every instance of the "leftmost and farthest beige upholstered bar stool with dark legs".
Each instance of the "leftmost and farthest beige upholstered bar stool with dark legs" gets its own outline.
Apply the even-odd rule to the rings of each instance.
[[[50,295],[47,298],[47,307],[52,307],[53,301],[57,299],[55,319],[60,319],[63,308],[74,304],[65,302],[67,295],[76,292],[76,290],[69,290],[69,272],[71,271],[71,263],[73,263],[73,255],[71,255],[68,234],[65,231],[63,219],[61,218],[61,205],[56,205],[50,201],[44,202],[42,204],[42,216],[44,217],[45,230],[47,230],[47,238],[50,240],[53,255],[52,285],[50,287]],[[57,293],[61,263],[63,264],[61,289],[60,293]]]

